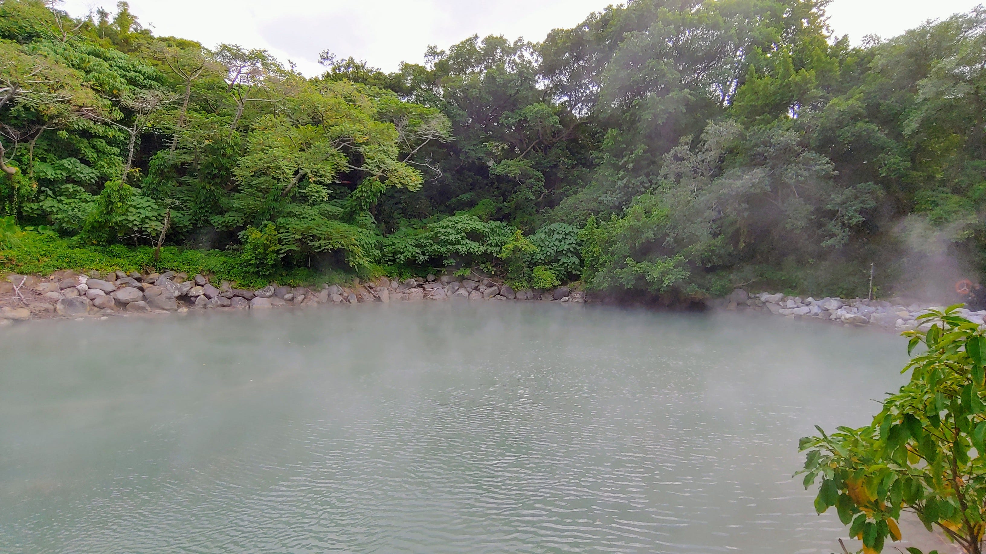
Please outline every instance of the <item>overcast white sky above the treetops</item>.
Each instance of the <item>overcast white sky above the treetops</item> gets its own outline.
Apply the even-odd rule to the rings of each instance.
[[[858,42],[889,37],[928,19],[964,12],[983,0],[834,0],[830,25]],[[606,0],[130,0],[130,10],[155,35],[176,35],[206,46],[232,42],[266,48],[301,71],[317,74],[318,53],[329,49],[387,71],[420,62],[429,44],[447,47],[470,35],[540,40],[573,27]],[[80,16],[114,0],[65,0]]]

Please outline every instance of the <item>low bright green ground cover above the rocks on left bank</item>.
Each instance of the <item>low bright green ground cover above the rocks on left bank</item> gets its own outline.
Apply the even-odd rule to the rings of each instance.
[[[48,275],[54,271],[141,271],[174,270],[189,274],[212,275],[241,287],[262,287],[274,281],[283,285],[308,285],[344,282],[353,275],[333,271],[327,274],[310,269],[295,269],[261,275],[246,263],[240,252],[195,250],[165,246],[154,259],[151,246],[76,246],[73,242],[49,234],[24,232],[8,249],[0,248],[0,271]]]

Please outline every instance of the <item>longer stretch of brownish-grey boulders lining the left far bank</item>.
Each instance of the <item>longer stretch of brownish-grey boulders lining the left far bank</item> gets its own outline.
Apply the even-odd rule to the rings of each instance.
[[[320,289],[267,285],[257,290],[213,284],[205,275],[165,273],[106,274],[59,271],[50,276],[8,275],[0,280],[0,324],[52,317],[110,317],[130,313],[189,310],[269,310],[399,301],[557,301],[585,303],[581,291],[515,291],[502,282],[472,273],[467,277],[429,275],[390,281],[386,277],[351,286],[324,284]]]

